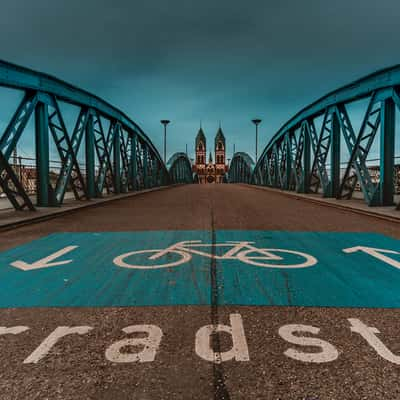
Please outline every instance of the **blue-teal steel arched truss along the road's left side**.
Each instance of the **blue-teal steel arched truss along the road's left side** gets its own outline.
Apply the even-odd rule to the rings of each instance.
[[[67,189],[82,200],[170,183],[168,170],[148,136],[101,98],[4,61],[0,61],[0,87],[23,93],[0,137],[0,187],[16,210],[34,210],[35,203],[59,206]],[[77,110],[69,129],[63,104]],[[34,190],[28,191],[23,182],[27,170],[18,170],[10,158],[13,154],[16,158],[17,145],[32,119],[34,128],[29,135],[35,157],[28,175]],[[50,163],[54,156],[60,160],[57,168]]]

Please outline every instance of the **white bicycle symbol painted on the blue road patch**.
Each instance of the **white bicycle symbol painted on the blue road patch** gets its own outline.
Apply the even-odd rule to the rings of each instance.
[[[121,254],[114,258],[113,262],[115,265],[122,268],[133,268],[133,269],[159,269],[159,268],[170,268],[189,262],[192,259],[192,254],[196,254],[202,257],[214,258],[218,260],[239,260],[245,264],[256,265],[258,267],[265,268],[306,268],[315,265],[318,261],[315,257],[301,253],[299,251],[286,250],[286,249],[259,249],[252,246],[254,242],[235,242],[228,241],[225,243],[206,244],[202,243],[201,240],[189,240],[175,243],[166,249],[152,249],[152,250],[136,250],[129,253]],[[232,247],[223,255],[216,255],[213,253],[206,253],[199,250],[204,247]],[[177,261],[169,262],[166,264],[158,265],[134,265],[125,261],[128,257],[132,257],[139,254],[149,254],[147,260],[157,260],[169,253],[177,254],[179,259]],[[282,254],[283,256],[279,256]],[[285,264],[285,256],[292,255],[301,258],[301,262],[295,264]],[[293,257],[292,257],[293,258]],[[269,263],[270,261],[283,261],[283,263]]]

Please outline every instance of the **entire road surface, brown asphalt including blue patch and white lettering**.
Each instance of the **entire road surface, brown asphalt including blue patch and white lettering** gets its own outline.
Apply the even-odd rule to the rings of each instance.
[[[400,399],[399,224],[188,185],[0,236],[0,399]]]

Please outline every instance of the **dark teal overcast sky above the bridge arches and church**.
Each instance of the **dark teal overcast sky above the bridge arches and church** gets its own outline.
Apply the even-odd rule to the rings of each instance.
[[[260,152],[310,102],[398,64],[399,20],[398,0],[2,0],[0,58],[111,102],[160,153],[167,118],[168,155],[193,156],[202,121],[228,158],[254,157],[252,118]]]

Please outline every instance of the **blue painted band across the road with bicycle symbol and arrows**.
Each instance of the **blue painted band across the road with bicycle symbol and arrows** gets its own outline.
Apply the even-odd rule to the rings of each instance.
[[[400,242],[374,233],[57,233],[0,254],[0,307],[400,307]],[[212,248],[214,247],[214,249]]]

